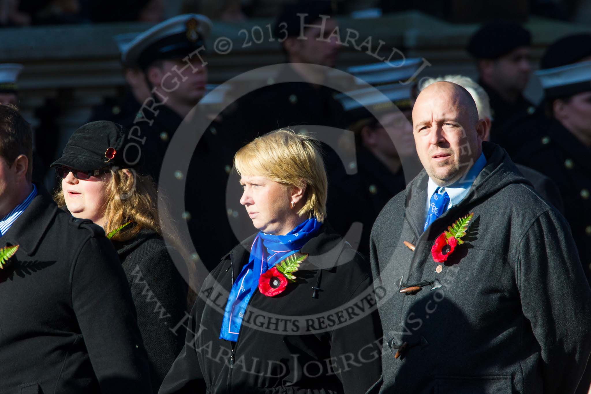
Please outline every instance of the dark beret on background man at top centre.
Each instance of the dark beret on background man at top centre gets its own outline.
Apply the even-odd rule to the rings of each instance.
[[[307,14],[304,17],[304,24],[313,24],[321,19],[320,15],[332,16],[334,14],[332,1],[300,1],[296,4],[286,5],[275,21],[275,37],[279,39],[285,37],[285,31],[287,31],[287,37],[300,35],[301,18],[297,14]],[[327,34],[330,34],[330,31]]]

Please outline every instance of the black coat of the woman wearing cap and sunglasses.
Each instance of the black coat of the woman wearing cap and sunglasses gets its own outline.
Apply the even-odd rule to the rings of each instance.
[[[158,392],[164,376],[184,344],[185,330],[176,327],[187,311],[187,283],[157,233],[142,230],[115,247],[127,276],[138,315],[139,331],[150,363],[152,390]]]

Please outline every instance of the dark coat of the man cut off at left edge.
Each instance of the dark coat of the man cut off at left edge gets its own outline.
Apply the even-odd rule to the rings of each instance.
[[[121,263],[103,230],[38,194],[0,238],[0,392],[150,393]]]

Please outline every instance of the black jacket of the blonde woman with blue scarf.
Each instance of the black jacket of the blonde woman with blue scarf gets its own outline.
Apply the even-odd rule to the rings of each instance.
[[[298,283],[275,297],[255,291],[238,341],[219,339],[226,298],[253,239],[204,282],[186,346],[159,393],[364,393],[379,378],[376,294],[367,263],[327,224],[301,249],[309,257]],[[322,289],[318,298],[313,286]],[[197,389],[199,381],[207,388]]]

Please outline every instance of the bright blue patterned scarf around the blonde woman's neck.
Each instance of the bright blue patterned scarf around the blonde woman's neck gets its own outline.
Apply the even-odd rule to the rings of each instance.
[[[259,277],[275,264],[293,255],[306,242],[316,236],[322,223],[308,219],[298,224],[287,235],[271,235],[259,232],[251,246],[248,264],[232,284],[228,302],[223,314],[220,339],[236,342],[242,325],[242,318],[252,294],[258,288]]]

